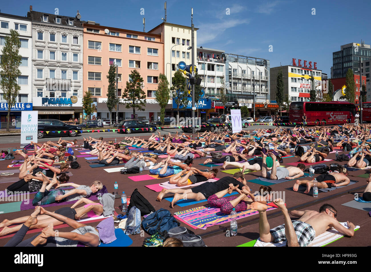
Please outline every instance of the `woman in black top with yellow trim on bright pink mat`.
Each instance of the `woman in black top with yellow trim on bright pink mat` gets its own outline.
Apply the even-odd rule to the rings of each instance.
[[[212,179],[216,177],[218,169],[214,168],[209,170],[199,170],[195,167],[190,167],[190,171],[188,169],[183,169],[183,171],[179,172],[178,174],[170,177],[170,184],[176,184],[179,187],[196,184],[198,182],[207,181],[208,179]]]

